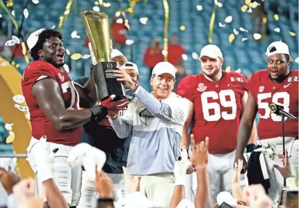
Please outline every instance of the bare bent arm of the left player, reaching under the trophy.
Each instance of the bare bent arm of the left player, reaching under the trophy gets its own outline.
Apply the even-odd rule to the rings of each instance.
[[[91,109],[65,109],[65,103],[60,93],[60,86],[54,79],[45,78],[36,82],[32,87],[32,94],[37,100],[40,109],[42,109],[49,121],[57,129],[72,129],[85,124],[92,118]],[[105,118],[108,109],[104,106],[95,107],[99,111],[97,115]]]

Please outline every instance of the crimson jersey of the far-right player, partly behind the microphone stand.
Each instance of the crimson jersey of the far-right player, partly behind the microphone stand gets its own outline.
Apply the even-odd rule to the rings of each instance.
[[[257,103],[259,139],[282,136],[282,116],[270,113],[268,104],[274,102],[284,106],[287,111],[298,118],[298,70],[291,71],[282,83],[273,83],[267,70],[252,74],[249,82],[249,92]],[[285,120],[285,136],[298,136],[298,121]]]

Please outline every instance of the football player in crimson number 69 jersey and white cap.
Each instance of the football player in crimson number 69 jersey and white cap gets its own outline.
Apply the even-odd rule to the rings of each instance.
[[[209,178],[211,199],[216,203],[220,191],[231,191],[237,132],[248,98],[247,79],[243,74],[221,70],[223,54],[216,45],[206,45],[200,52],[203,74],[185,77],[177,93],[193,103],[195,143],[209,137]],[[188,128],[185,124],[184,128]],[[186,131],[185,131],[186,132]],[[184,134],[188,136],[188,134]],[[182,138],[184,139],[184,138]],[[252,141],[256,131],[252,131]],[[247,185],[243,177],[243,186]],[[193,174],[193,193],[196,193]]]

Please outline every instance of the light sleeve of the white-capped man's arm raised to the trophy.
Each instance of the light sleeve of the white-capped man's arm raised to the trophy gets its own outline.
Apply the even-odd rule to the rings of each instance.
[[[148,93],[147,90],[140,86],[137,88],[135,94],[154,117],[178,125],[184,124],[188,114],[188,107],[184,106],[184,99],[179,99],[178,97],[181,102],[174,102],[170,106],[169,104],[160,102],[159,99],[156,99],[154,95]]]

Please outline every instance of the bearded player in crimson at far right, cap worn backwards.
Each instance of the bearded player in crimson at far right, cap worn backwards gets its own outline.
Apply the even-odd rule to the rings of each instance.
[[[270,144],[275,154],[283,153],[282,116],[271,113],[268,105],[275,103],[283,106],[284,111],[298,118],[298,70],[289,70],[289,62],[293,61],[289,54],[289,47],[284,42],[272,42],[267,48],[267,70],[259,70],[252,74],[249,82],[248,102],[241,120],[238,134],[236,161],[243,159],[243,172],[246,161],[243,150],[250,138],[252,124],[259,112],[258,136],[259,142],[265,147]],[[289,152],[291,172],[298,179],[298,121],[285,118],[284,124],[285,147]],[[277,166],[270,157],[266,157],[266,166],[270,180],[268,194],[273,201],[277,201],[283,178]],[[273,165],[276,168],[273,168]],[[277,164],[276,164],[277,165]],[[278,169],[280,169],[278,167]]]

